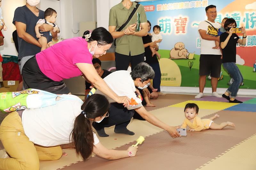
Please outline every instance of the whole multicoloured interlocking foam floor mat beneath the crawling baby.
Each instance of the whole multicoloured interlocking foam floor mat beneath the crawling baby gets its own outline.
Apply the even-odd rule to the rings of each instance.
[[[228,103],[226,99],[194,95],[167,94],[151,100],[156,107],[145,107],[151,114],[170,126],[181,125],[187,103],[199,106],[198,116],[209,118],[220,115],[215,123],[234,122],[236,127],[222,130],[187,131],[187,137],[173,139],[167,131],[146,121],[132,120],[128,129],[134,136],[116,134],[114,127],[106,128],[109,137],[99,137],[108,149],[126,150],[139,136],[145,141],[137,155],[119,160],[106,160],[92,155],[84,162],[74,149],[65,149],[68,156],[57,161],[41,161],[44,170],[82,169],[255,169],[256,167],[256,98],[237,97],[242,104]],[[0,145],[1,147],[1,145]],[[0,151],[4,152],[3,148]]]

